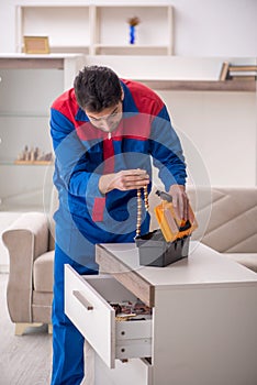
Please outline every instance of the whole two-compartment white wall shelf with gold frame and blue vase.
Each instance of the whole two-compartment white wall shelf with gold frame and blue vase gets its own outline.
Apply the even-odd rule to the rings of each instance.
[[[130,44],[127,20],[135,15],[141,23]],[[24,35],[36,35],[48,36],[52,53],[172,55],[172,28],[169,4],[19,6],[16,51],[23,52]]]

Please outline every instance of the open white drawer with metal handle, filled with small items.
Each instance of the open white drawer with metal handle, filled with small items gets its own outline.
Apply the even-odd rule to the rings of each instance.
[[[111,369],[115,359],[152,356],[152,319],[116,321],[109,304],[127,300],[136,297],[111,275],[80,276],[65,265],[65,312]]]

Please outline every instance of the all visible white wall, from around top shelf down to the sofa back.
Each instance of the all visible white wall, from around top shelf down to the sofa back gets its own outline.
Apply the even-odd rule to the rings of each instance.
[[[175,56],[172,62],[155,57],[87,57],[132,78],[217,79],[221,63],[231,57],[256,63],[257,0],[172,0]],[[0,52],[15,51],[15,6],[89,4],[89,1],[4,0],[0,11]],[[90,3],[110,3],[109,0]],[[112,4],[130,3],[128,0]],[[134,3],[156,3],[152,0]],[[159,0],[158,3],[167,3]],[[3,37],[4,36],[4,37]],[[202,62],[195,58],[204,58]],[[181,61],[187,58],[187,61]],[[190,59],[189,59],[190,58]],[[185,65],[186,63],[186,65]],[[175,125],[194,143],[213,185],[255,185],[256,92],[160,92]],[[190,155],[190,154],[189,154]]]

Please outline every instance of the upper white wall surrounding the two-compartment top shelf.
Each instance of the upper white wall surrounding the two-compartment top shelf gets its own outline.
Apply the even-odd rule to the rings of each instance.
[[[141,0],[118,3],[170,3],[175,8],[175,54],[180,56],[256,56],[256,0]],[[0,7],[0,52],[15,52],[15,6],[110,3],[71,0],[4,0]]]

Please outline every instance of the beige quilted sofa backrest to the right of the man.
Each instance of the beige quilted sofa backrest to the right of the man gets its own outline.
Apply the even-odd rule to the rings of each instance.
[[[198,191],[200,202],[203,193]],[[212,188],[210,204],[197,211],[200,228],[209,213],[209,223],[201,229],[202,243],[221,253],[257,253],[256,187]]]

